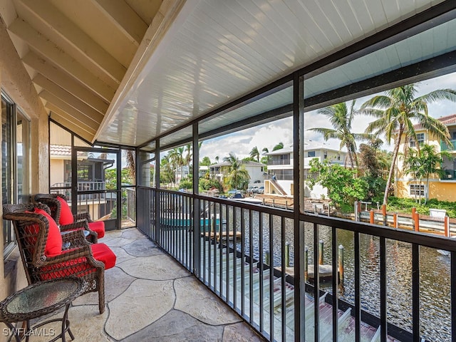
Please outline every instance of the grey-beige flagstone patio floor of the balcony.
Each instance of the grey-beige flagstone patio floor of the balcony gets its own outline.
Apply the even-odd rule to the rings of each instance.
[[[73,301],[68,318],[76,341],[265,341],[138,229],[106,232],[99,242],[117,255],[105,271],[106,310],[98,312],[98,293]]]

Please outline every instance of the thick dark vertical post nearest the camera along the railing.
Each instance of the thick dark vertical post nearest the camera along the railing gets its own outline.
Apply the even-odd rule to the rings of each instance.
[[[304,76],[293,75],[293,191],[294,191],[294,339],[306,341],[306,283],[304,279]]]

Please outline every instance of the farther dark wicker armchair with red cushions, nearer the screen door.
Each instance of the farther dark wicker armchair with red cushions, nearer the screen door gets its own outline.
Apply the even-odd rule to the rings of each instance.
[[[103,221],[98,221],[98,222],[93,222],[93,220],[90,217],[90,213],[88,212],[83,212],[81,214],[70,214],[72,216],[73,223],[66,224],[67,222],[62,222],[62,203],[61,201],[58,200],[58,197],[63,199],[65,202],[67,202],[66,196],[63,194],[36,194],[35,195],[35,202],[41,202],[46,204],[49,209],[51,209],[51,216],[53,219],[56,220],[58,224],[61,226],[61,230],[71,230],[74,229],[74,227],[78,226],[80,227],[79,222],[81,220],[85,220],[85,229],[90,232],[88,236],[88,241],[93,242],[96,244],[98,242],[98,238],[103,237],[105,234],[105,224]],[[68,211],[68,204],[64,203],[66,205],[66,210]]]

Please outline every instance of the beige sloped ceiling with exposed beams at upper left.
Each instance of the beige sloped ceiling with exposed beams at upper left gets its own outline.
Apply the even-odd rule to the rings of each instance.
[[[2,19],[49,115],[92,141],[162,0],[2,2]]]

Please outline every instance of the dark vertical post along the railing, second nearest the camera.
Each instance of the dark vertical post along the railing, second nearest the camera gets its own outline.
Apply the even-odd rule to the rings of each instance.
[[[199,133],[198,133],[198,123],[194,123],[192,126],[193,129],[193,273],[199,278],[200,272],[200,221],[199,221],[199,199],[195,195],[199,195]],[[220,215],[222,219],[222,215]]]

